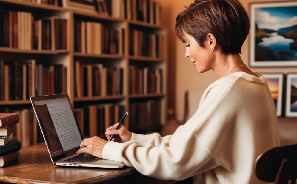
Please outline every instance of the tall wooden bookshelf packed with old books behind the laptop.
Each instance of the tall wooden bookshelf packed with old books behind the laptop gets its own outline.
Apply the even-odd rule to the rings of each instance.
[[[160,131],[167,50],[159,4],[106,1],[107,15],[62,3],[0,0],[0,112],[20,114],[15,137],[23,147],[43,141],[29,97],[54,93],[68,93],[84,137],[104,137],[126,111],[131,131]]]

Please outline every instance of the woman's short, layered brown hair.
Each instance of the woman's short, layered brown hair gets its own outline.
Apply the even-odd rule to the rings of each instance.
[[[175,34],[184,42],[183,31],[194,37],[200,47],[208,33],[216,37],[221,52],[241,53],[249,34],[249,16],[237,0],[195,0],[176,17]]]

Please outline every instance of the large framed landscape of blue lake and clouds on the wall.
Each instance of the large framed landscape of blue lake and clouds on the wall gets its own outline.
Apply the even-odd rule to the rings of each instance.
[[[249,65],[297,66],[297,1],[250,4]]]

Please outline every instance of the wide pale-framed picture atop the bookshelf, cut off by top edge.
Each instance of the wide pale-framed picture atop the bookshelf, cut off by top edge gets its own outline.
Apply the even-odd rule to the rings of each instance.
[[[62,0],[64,8],[96,12],[95,0]]]

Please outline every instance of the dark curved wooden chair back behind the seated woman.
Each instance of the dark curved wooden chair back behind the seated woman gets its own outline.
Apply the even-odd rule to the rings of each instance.
[[[271,148],[254,164],[254,173],[265,182],[295,183],[297,179],[297,144]]]

